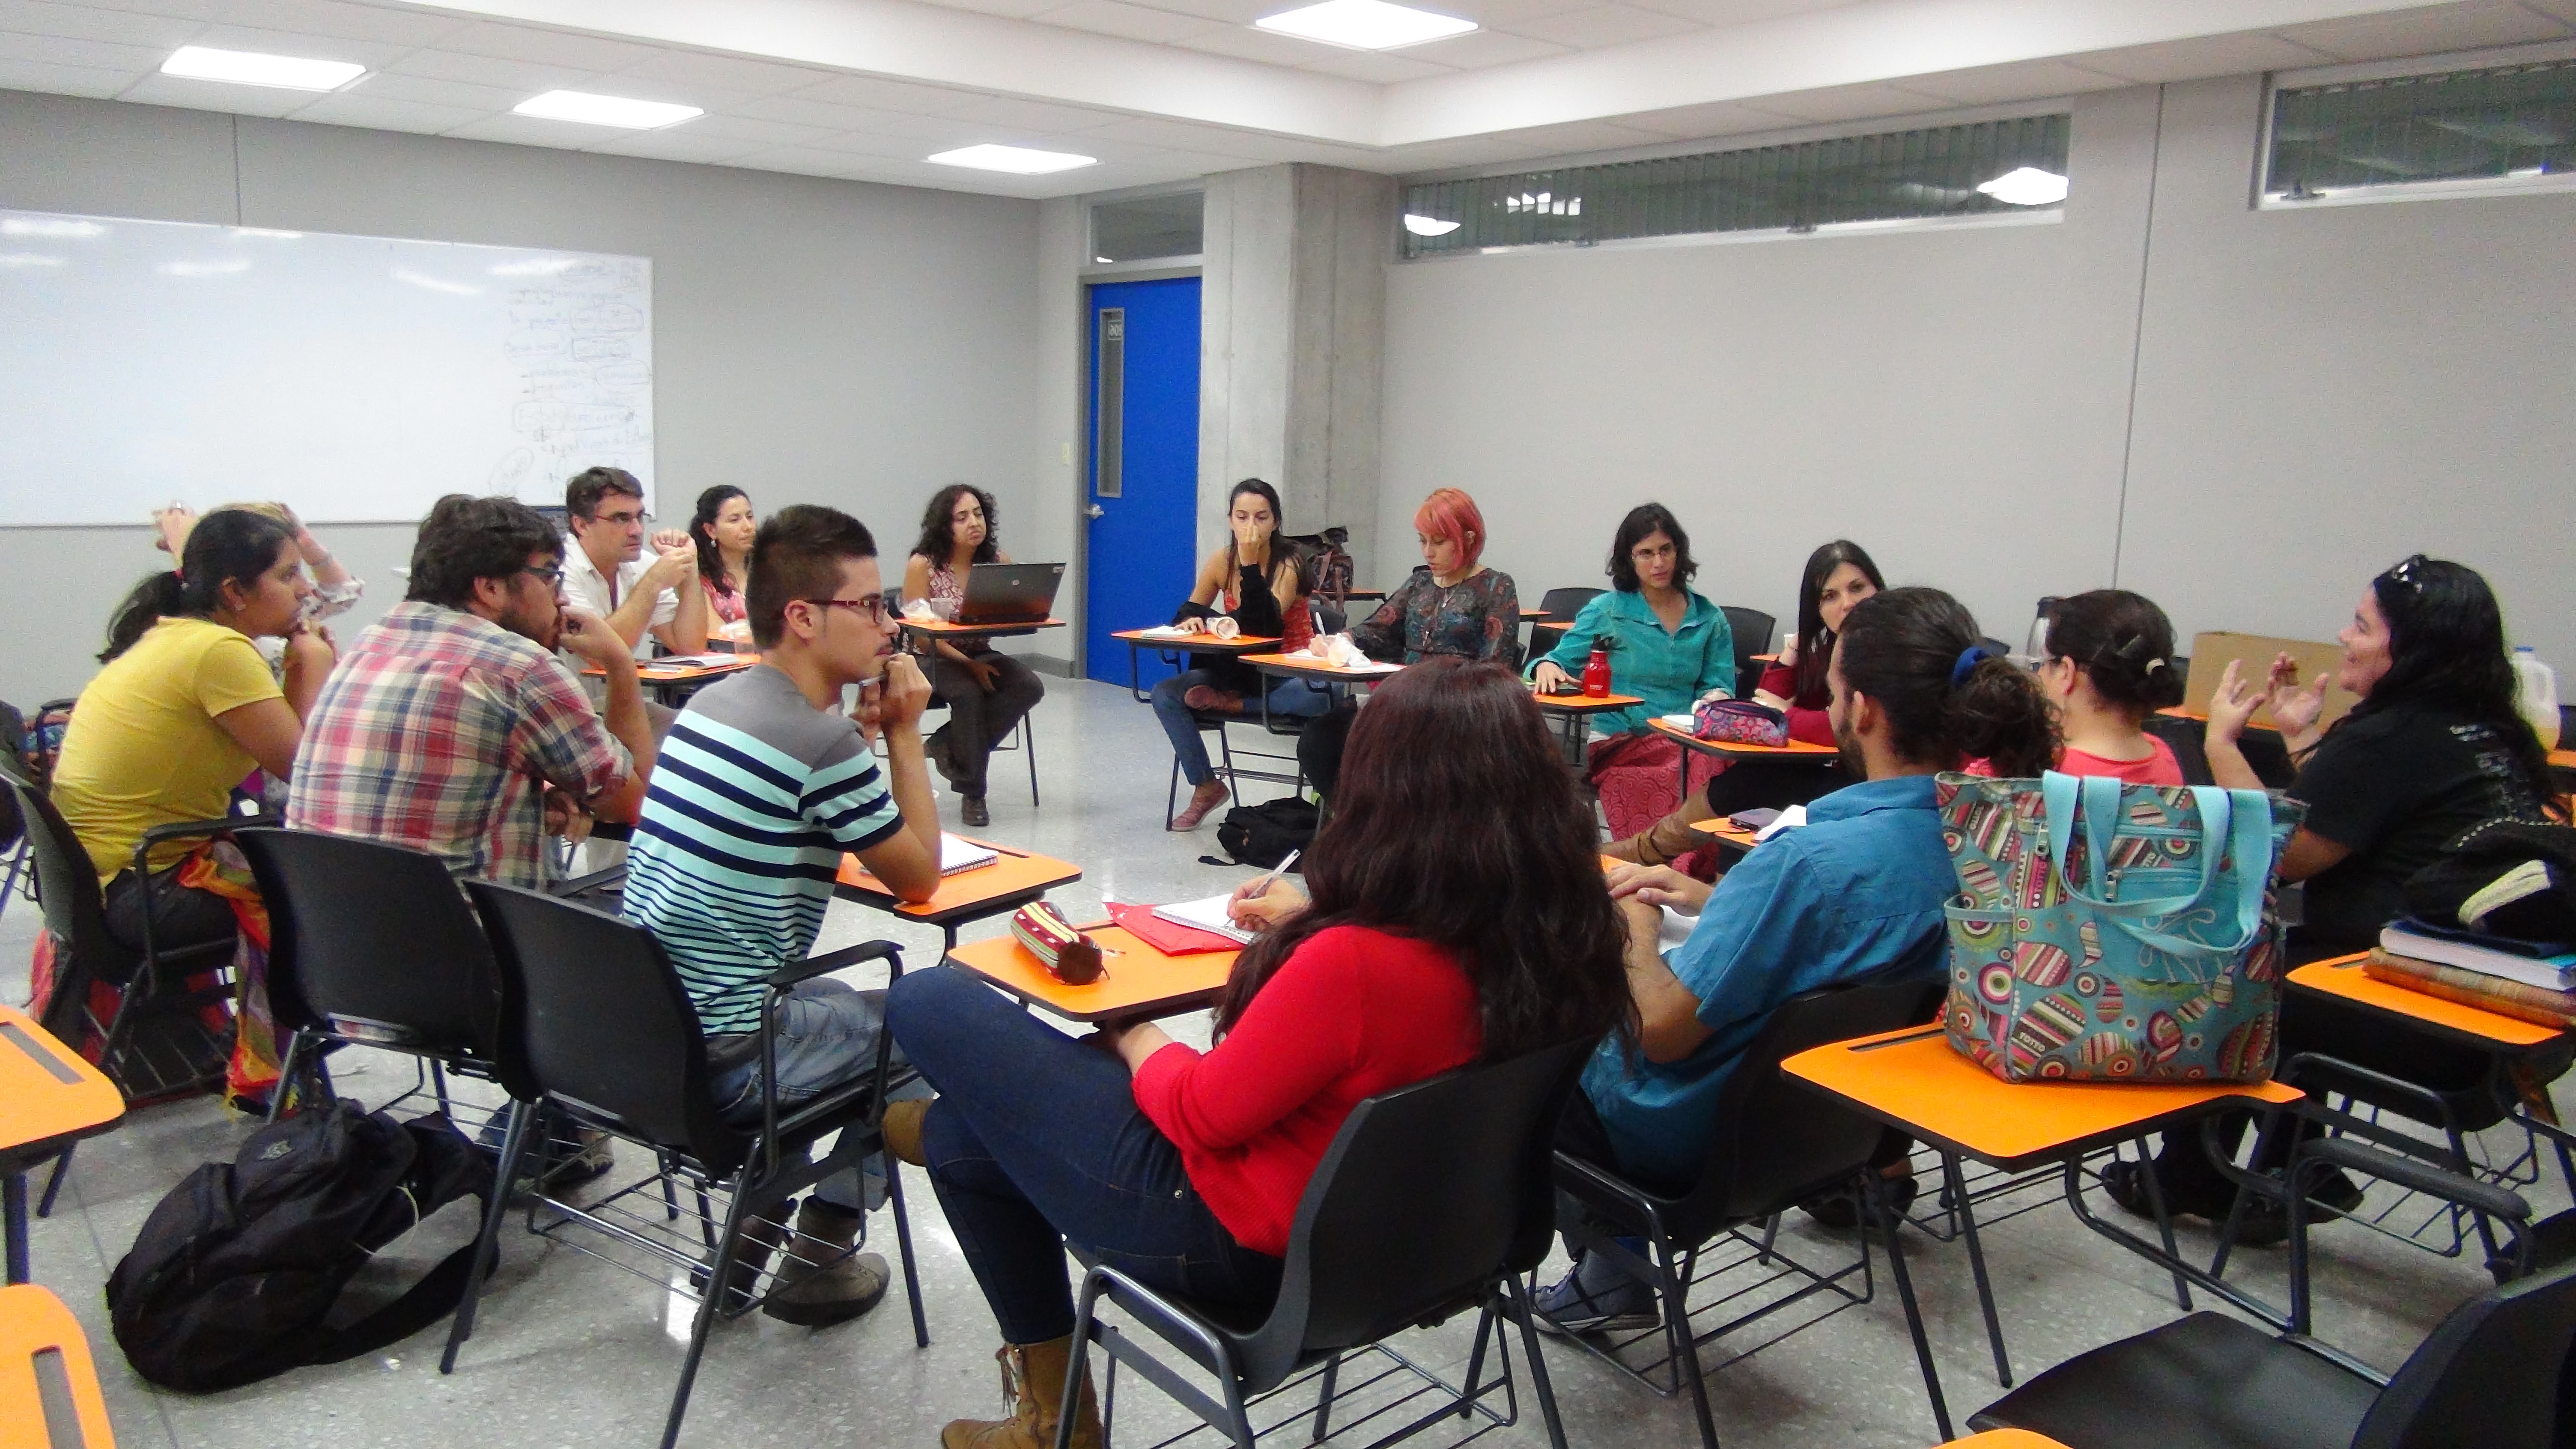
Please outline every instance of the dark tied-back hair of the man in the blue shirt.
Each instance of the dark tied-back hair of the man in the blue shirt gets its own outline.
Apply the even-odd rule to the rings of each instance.
[[[2058,724],[2040,686],[1984,647],[1976,619],[1937,588],[1891,588],[1842,619],[1834,663],[1852,694],[1888,714],[1896,753],[1917,766],[1994,763],[2035,776],[2058,758]]]

